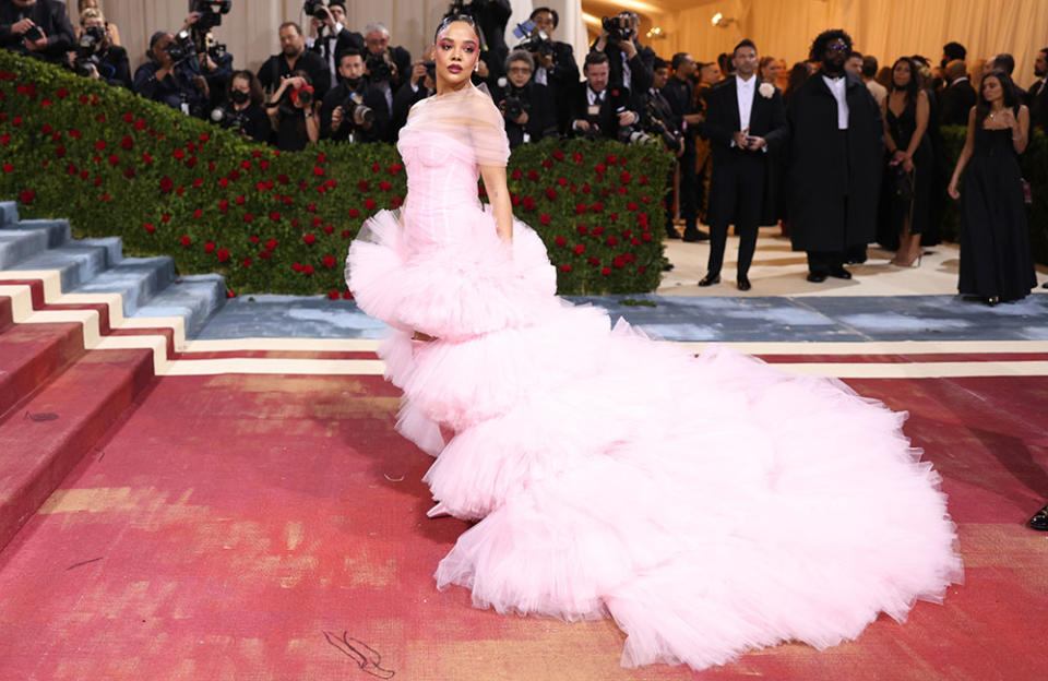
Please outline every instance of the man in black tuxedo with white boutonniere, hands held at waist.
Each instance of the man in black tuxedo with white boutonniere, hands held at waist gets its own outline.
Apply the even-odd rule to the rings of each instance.
[[[786,109],[778,88],[760,83],[757,46],[735,47],[735,75],[710,93],[705,132],[713,147],[710,181],[710,261],[699,286],[720,280],[728,224],[739,234],[739,290],[750,290],[749,270],[764,202],[767,150],[786,138]]]

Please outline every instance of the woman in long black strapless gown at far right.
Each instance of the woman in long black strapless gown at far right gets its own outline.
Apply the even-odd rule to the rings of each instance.
[[[1025,298],[1037,286],[1019,168],[1028,130],[1029,110],[1020,104],[1011,77],[1003,71],[984,75],[948,191],[953,199],[964,196],[958,289],[991,306]]]

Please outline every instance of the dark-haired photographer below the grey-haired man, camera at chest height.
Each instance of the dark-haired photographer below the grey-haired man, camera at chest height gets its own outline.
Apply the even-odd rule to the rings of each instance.
[[[382,142],[390,117],[385,98],[365,77],[364,55],[347,49],[338,55],[340,83],[324,96],[320,134],[336,142]]]

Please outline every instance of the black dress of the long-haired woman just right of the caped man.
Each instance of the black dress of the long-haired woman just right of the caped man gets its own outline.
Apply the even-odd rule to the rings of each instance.
[[[909,142],[917,131],[917,106],[906,105],[897,117],[888,109],[885,116],[888,129],[892,133],[895,146],[901,150],[909,148]],[[929,123],[930,124],[930,123]],[[914,199],[913,203],[903,201],[892,192],[895,172],[893,166],[885,167],[884,182],[882,183],[881,225],[878,229],[878,241],[889,250],[898,248],[898,237],[903,232],[906,214],[910,214],[910,234],[925,234],[931,228],[932,192],[934,191],[936,155],[931,148],[931,139],[926,131],[920,144],[914,152]]]

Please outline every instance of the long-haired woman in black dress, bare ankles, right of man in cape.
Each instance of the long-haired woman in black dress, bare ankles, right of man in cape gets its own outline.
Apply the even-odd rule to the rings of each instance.
[[[884,181],[884,223],[892,240],[898,236],[893,265],[920,264],[920,235],[931,223],[934,154],[926,134],[930,119],[928,93],[920,86],[917,65],[900,57],[892,67],[892,87],[884,99],[884,143],[888,162]],[[901,191],[903,188],[908,191]]]

